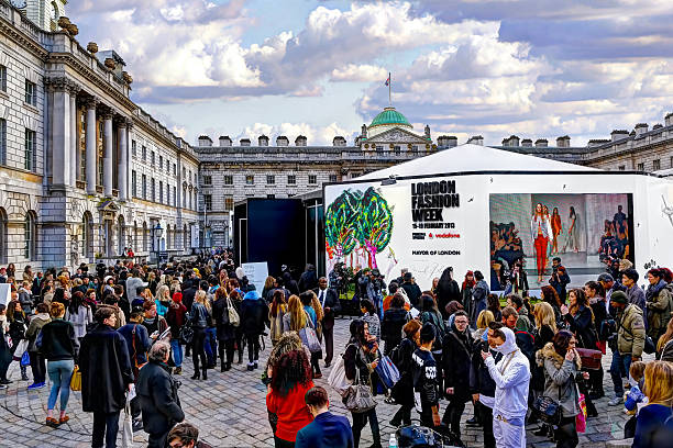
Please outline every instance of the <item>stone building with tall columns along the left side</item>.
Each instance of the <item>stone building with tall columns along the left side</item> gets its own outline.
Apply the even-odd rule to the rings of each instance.
[[[114,52],[84,48],[65,18],[52,32],[25,13],[0,0],[0,265],[191,251],[194,150],[129,99],[132,78]],[[154,194],[137,190],[139,177]]]

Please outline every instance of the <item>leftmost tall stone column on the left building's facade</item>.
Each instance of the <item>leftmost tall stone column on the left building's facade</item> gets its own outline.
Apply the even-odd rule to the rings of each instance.
[[[47,87],[52,93],[49,114],[52,117],[52,184],[66,187],[70,184],[70,93],[69,81],[51,78]]]

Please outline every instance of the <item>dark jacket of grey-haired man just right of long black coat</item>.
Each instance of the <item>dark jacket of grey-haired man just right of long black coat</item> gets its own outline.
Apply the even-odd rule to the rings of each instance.
[[[150,361],[140,370],[135,387],[143,410],[143,428],[148,434],[167,433],[185,419],[177,383],[168,366]]]

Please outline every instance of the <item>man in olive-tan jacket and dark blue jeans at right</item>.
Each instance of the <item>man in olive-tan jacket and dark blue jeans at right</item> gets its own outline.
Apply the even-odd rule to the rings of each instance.
[[[626,276],[625,276],[626,277]],[[610,305],[617,312],[617,349],[613,350],[610,377],[615,387],[615,397],[608,402],[610,406],[621,403],[624,384],[631,362],[640,361],[644,348],[646,327],[642,310],[635,303],[629,303],[624,291],[615,291],[610,296]]]

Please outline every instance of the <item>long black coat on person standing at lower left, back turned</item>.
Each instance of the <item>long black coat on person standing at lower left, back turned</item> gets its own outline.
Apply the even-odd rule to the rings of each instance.
[[[81,339],[79,370],[84,412],[110,414],[124,408],[126,390],[133,382],[133,370],[126,341],[121,334],[111,326],[96,325]]]

